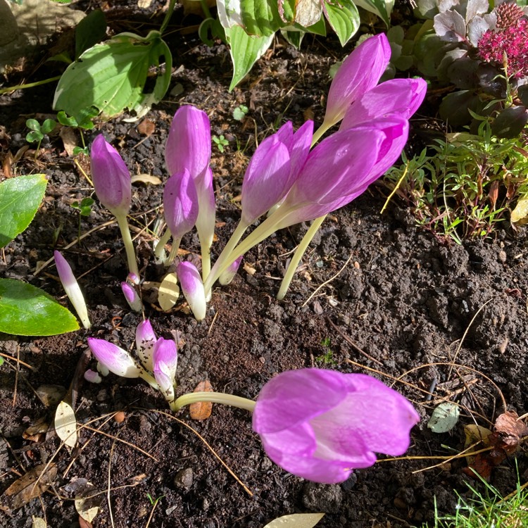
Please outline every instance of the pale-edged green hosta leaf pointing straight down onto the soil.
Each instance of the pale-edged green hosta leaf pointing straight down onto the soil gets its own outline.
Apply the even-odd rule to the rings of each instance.
[[[270,47],[273,34],[268,37],[250,37],[242,27],[235,25],[225,29],[225,36],[230,44],[230,54],[233,62],[231,91]]]

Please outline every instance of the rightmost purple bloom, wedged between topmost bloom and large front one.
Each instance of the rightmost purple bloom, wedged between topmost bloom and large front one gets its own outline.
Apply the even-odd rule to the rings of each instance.
[[[367,125],[377,118],[397,114],[409,119],[427,92],[423,79],[392,79],[378,84],[348,107],[339,130]]]

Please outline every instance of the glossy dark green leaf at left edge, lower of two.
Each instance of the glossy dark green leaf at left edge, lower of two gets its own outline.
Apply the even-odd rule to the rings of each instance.
[[[79,329],[75,316],[45,291],[15,279],[0,279],[0,332],[53,336]]]

